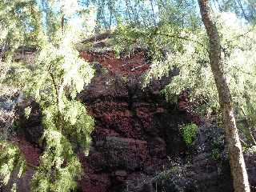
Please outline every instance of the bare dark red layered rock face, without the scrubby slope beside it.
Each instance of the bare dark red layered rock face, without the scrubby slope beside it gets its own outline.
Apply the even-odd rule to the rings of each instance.
[[[167,81],[152,82],[142,90],[141,74],[149,66],[138,55],[125,62],[102,55],[97,74],[79,95],[96,121],[89,157],[82,161],[86,173],[79,182],[81,191],[129,190],[163,170],[168,156],[186,149],[178,130],[187,122],[186,112],[160,94]],[[82,56],[92,61],[92,55]],[[141,65],[144,70],[134,74]]]

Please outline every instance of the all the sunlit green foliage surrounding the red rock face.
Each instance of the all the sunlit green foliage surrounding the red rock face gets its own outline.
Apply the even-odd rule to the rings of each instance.
[[[238,126],[246,136],[244,144],[255,146],[255,2],[211,2]],[[78,153],[88,153],[94,119],[77,94],[90,83],[94,70],[79,58],[76,47],[91,34],[112,28],[117,54],[142,48],[150,55],[151,69],[145,74],[144,86],[178,69],[178,75],[162,90],[166,99],[172,102],[186,90],[193,110],[204,118],[218,119],[220,106],[209,64],[208,38],[197,2],[2,0],[0,88],[15,87],[13,90],[22,92],[26,99],[34,98],[43,114],[43,153],[35,167],[32,191],[74,190],[82,175]],[[28,48],[32,58],[19,58]],[[4,113],[0,111],[0,115]],[[29,108],[26,116],[30,116]],[[196,130],[194,124],[182,129],[188,145]],[[20,178],[28,165],[10,137],[2,134],[0,138],[0,177],[6,184],[12,173]],[[13,190],[16,188],[14,183]]]

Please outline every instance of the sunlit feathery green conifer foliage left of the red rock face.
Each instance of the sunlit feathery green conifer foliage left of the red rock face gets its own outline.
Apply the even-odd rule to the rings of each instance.
[[[12,1],[4,2],[1,6],[7,9],[12,5]],[[27,1],[14,2],[15,11],[19,11],[22,9],[19,5]],[[85,37],[82,32],[90,31],[80,23],[74,26],[74,19],[89,18],[91,11],[79,10],[77,1],[42,2],[47,3],[47,10],[43,10],[39,2],[31,6],[31,10],[41,9],[37,25],[42,27],[34,34],[37,49],[35,62],[32,65],[15,62],[14,54],[10,54],[12,72],[6,74],[3,82],[15,82],[26,98],[35,98],[42,110],[44,134],[41,143],[44,151],[39,166],[34,168],[31,191],[70,191],[76,187],[76,181],[82,174],[77,153],[88,153],[90,133],[94,127],[94,119],[76,98],[94,75],[93,68],[79,58],[75,49],[76,43]],[[32,12],[31,15],[34,15]],[[44,23],[49,27],[45,27]],[[30,26],[20,30],[20,35],[26,30],[30,31]],[[30,46],[27,41],[22,43]],[[10,47],[14,50],[18,48]],[[18,147],[9,141],[1,142],[1,149],[0,173],[6,184],[15,167],[19,168],[18,177],[21,177],[26,160]]]

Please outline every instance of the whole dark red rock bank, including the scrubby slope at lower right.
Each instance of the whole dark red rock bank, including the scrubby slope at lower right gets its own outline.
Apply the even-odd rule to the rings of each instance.
[[[199,125],[200,119],[187,112],[186,92],[177,104],[167,103],[160,94],[170,78],[142,89],[142,74],[149,69],[143,52],[118,59],[111,53],[81,55],[94,62],[97,73],[78,95],[94,117],[95,127],[89,156],[79,155],[84,175],[77,191],[233,191],[223,130],[200,126],[193,145],[187,147],[180,127],[188,122]],[[26,140],[37,143],[43,131],[40,110],[34,102],[23,108],[27,105],[32,106],[31,116],[26,120],[20,111],[20,123]],[[41,151],[33,150],[27,142],[18,144],[30,164],[37,166]],[[252,191],[256,186],[255,162],[255,157],[246,156]],[[19,182],[22,192],[30,191],[32,173],[29,170]]]

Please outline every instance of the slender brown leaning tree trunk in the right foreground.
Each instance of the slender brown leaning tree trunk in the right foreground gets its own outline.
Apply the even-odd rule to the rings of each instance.
[[[214,74],[214,80],[218,90],[218,98],[222,108],[234,191],[249,192],[250,185],[234,118],[232,98],[222,69],[221,43],[218,36],[218,30],[210,16],[209,0],[198,0],[198,4],[200,6],[202,22],[206,27],[206,32],[210,41],[210,67]]]

